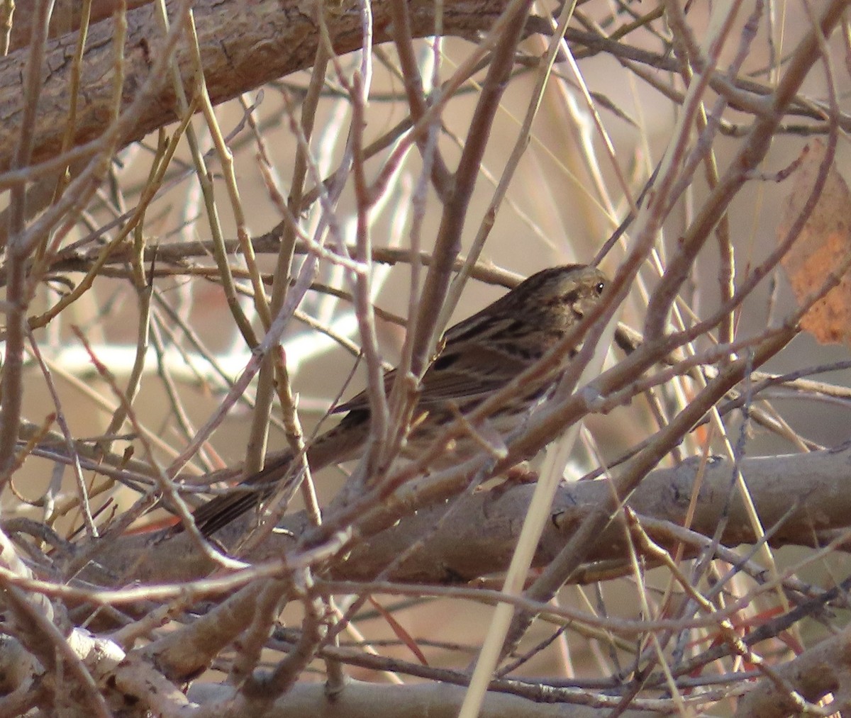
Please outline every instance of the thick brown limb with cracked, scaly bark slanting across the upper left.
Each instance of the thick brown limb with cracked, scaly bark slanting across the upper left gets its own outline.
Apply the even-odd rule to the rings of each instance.
[[[174,3],[169,3],[172,5]],[[505,0],[477,3],[450,0],[444,5],[444,34],[473,37],[491,26],[504,7]],[[313,64],[319,42],[317,3],[310,0],[264,0],[259,3],[198,0],[193,8],[204,77],[214,104]],[[389,3],[373,3],[372,9],[375,42],[384,43],[389,39]],[[431,3],[420,0],[410,3],[414,35],[424,37],[433,31],[433,10]],[[127,21],[124,105],[133,100],[136,89],[145,82],[165,37],[152,5],[129,11]],[[335,52],[342,54],[360,47],[363,35],[357,3],[346,0],[339,9],[334,6],[327,14],[327,22]],[[115,71],[114,31],[111,19],[89,28],[81,72],[77,144],[97,137],[110,118]],[[66,131],[69,78],[76,46],[77,32],[49,42],[38,102],[33,162],[53,157],[60,150]],[[0,170],[9,168],[19,135],[27,53],[27,48],[21,48],[0,60],[0,121],[3,123]],[[186,43],[177,58],[187,94],[191,95],[193,63]],[[163,83],[161,93],[138,118],[133,131],[123,138],[123,144],[139,140],[174,119],[174,92],[169,83]]]

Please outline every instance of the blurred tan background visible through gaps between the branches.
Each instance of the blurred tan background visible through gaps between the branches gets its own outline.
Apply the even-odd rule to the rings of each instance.
[[[757,3],[741,5],[726,35],[727,40],[718,53],[720,68],[733,62],[745,47],[742,40],[745,22],[749,13],[757,9]],[[580,20],[577,22],[586,28],[603,27],[611,35],[616,27],[623,27],[633,20],[632,8],[636,12],[650,12],[644,5],[630,5],[629,12],[625,6],[618,7],[620,9],[614,10],[614,3],[581,3],[577,11]],[[691,3],[688,8],[689,27],[698,42],[711,31],[709,7],[708,3]],[[541,17],[547,17],[554,10],[545,3],[536,8]],[[781,59],[791,53],[807,30],[806,11],[797,3],[785,5],[782,15],[774,18],[774,24],[768,21],[767,15],[760,16],[756,37],[746,46],[746,58],[739,77],[770,87],[781,71]],[[660,59],[671,58],[668,29],[658,18],[638,26],[631,31],[629,38],[632,47],[656,54]],[[428,80],[435,73],[439,79],[445,79],[472,47],[473,44],[465,40],[446,38],[440,42],[436,54],[432,41],[416,41],[422,77]],[[520,123],[528,111],[537,77],[535,68],[545,48],[546,39],[540,36],[529,37],[521,45],[521,54],[501,101],[471,198],[462,254],[469,250],[487,217],[495,183],[503,174],[511,149],[517,142]],[[832,56],[835,66],[841,67],[845,61],[845,48],[834,43],[831,52],[835,53]],[[557,61],[534,120],[528,148],[511,180],[505,202],[495,216],[480,258],[480,265],[504,270],[505,277],[511,273],[511,276],[519,278],[546,266],[591,261],[627,214],[629,202],[626,191],[631,193],[631,197],[637,197],[668,148],[676,127],[681,109],[675,100],[684,92],[682,78],[676,73],[657,70],[650,65],[631,64],[629,60],[619,61],[606,53],[582,57],[580,48],[577,48],[577,54],[580,55],[578,67],[582,82],[590,93],[592,105],[586,103],[570,63],[564,59]],[[437,64],[436,57],[439,60]],[[403,80],[393,48],[389,45],[374,48],[373,60],[374,75],[364,117],[365,145],[386,140],[391,130],[408,117],[408,103],[404,98]],[[360,63],[359,54],[340,58],[346,77],[350,77]],[[471,82],[465,83],[443,111],[443,125],[437,142],[450,168],[454,168],[466,141],[478,100],[478,83],[482,79],[483,73],[480,72]],[[831,81],[847,108],[848,72],[837,73]],[[309,82],[309,71],[297,72],[215,108],[221,132],[233,155],[239,205],[245,217],[245,229],[252,239],[265,235],[286,219],[281,211],[281,198],[285,201],[290,191],[298,146],[290,127],[290,113],[295,111],[298,116]],[[824,73],[814,71],[804,83],[802,94],[823,100],[826,82]],[[671,100],[672,97],[675,100]],[[713,110],[713,102],[716,101],[717,95],[707,91],[707,111]],[[717,166],[723,172],[739,151],[752,115],[725,107],[718,119],[722,123],[722,131],[711,137],[711,143]],[[816,132],[808,128],[808,124],[810,127],[817,124],[811,117],[791,115],[785,119],[782,131],[775,136],[768,157],[762,164],[764,174],[753,177],[730,207],[728,223],[734,242],[738,278],[747,276],[751,267],[776,246],[778,221],[785,208],[790,183],[776,181],[775,174],[790,166],[801,153],[809,135]],[[349,96],[334,71],[329,70],[317,107],[316,131],[311,141],[312,157],[319,176],[328,177],[339,166],[351,122]],[[235,240],[237,220],[234,204],[228,196],[220,154],[214,148],[203,117],[193,117],[191,126],[197,133],[199,145],[206,154],[208,171],[212,174],[222,236],[226,240]],[[171,134],[175,128],[176,125],[172,125],[164,128],[163,132]],[[602,130],[606,141],[603,141]],[[107,181],[66,236],[63,251],[74,247],[91,251],[117,236],[145,191],[151,168],[157,162],[159,141],[157,134],[151,134],[117,153],[111,162]],[[611,154],[606,142],[610,143]],[[386,190],[369,215],[370,238],[374,248],[408,250],[419,243],[420,250],[428,253],[437,234],[442,206],[430,185],[426,183],[425,190],[421,188],[424,180],[418,151],[408,151],[395,166],[388,165],[395,146],[391,137],[387,140],[386,150],[376,153],[365,164],[368,180],[375,180],[381,172],[391,175]],[[837,150],[837,167],[842,170],[847,166],[848,144],[841,141]],[[306,187],[314,187],[315,180],[309,176]],[[676,247],[708,191],[705,175],[699,169],[694,174],[694,181],[672,208],[665,221],[664,232],[658,238],[657,256],[661,264],[665,262],[665,254]],[[422,213],[421,219],[417,219],[418,212]],[[348,242],[354,242],[357,193],[351,178],[342,189],[334,216],[343,236]],[[313,202],[298,219],[300,231],[313,237],[317,227],[322,225],[322,208],[318,202]],[[152,281],[150,346],[134,397],[133,411],[157,461],[168,465],[186,447],[195,431],[220,407],[228,386],[242,373],[251,358],[250,348],[231,316],[209,250],[194,248],[190,252],[187,249],[186,258],[180,261],[167,254],[168,247],[189,247],[189,242],[208,242],[211,236],[210,215],[186,140],[180,140],[163,176],[162,188],[146,209],[141,234],[147,247],[162,248],[163,257],[169,259],[156,259],[147,267],[160,270],[160,273]],[[277,249],[270,243],[260,245],[256,251],[260,270],[271,275]],[[623,254],[624,245],[616,246],[603,259],[603,269],[614,275]],[[387,256],[390,256],[389,252]],[[303,254],[296,255],[294,275],[298,274],[303,258]],[[240,299],[243,311],[261,337],[263,330],[250,299],[250,282],[244,274],[239,276],[239,272],[245,269],[244,260],[237,253],[231,254],[228,260],[237,275],[237,287],[244,291]],[[684,304],[690,307],[694,316],[706,316],[717,306],[717,271],[717,246],[709,242],[683,292]],[[76,326],[80,329],[94,354],[123,390],[133,372],[140,334],[148,332],[148,328],[140,328],[140,316],[144,316],[140,307],[146,301],[145,288],[134,286],[130,278],[132,272],[129,263],[111,263],[109,271],[97,276],[80,299],[55,317],[48,327],[35,333],[54,380],[59,410],[74,437],[103,435],[119,402],[114,388],[94,368],[71,328]],[[163,276],[167,273],[170,276]],[[57,271],[50,282],[36,288],[32,313],[47,311],[81,277],[79,272]],[[656,267],[650,264],[643,267],[640,282],[632,288],[625,303],[623,322],[641,330],[646,298],[648,293],[653,292],[657,278]],[[325,260],[319,263],[317,282],[339,289],[344,294],[351,292],[351,276],[339,265]],[[377,333],[382,356],[389,366],[395,365],[403,345],[403,325],[411,305],[410,286],[411,270],[407,262],[374,263],[373,299],[375,307],[381,311]],[[267,291],[271,293],[271,288],[267,287]],[[504,292],[504,285],[471,280],[454,311],[452,322],[478,311]],[[794,306],[785,277],[778,275],[776,279],[763,282],[747,300],[736,317],[737,332],[743,336],[757,333],[768,324],[780,321]],[[311,290],[300,304],[299,311],[303,316],[296,316],[288,323],[283,347],[289,379],[298,394],[299,417],[306,435],[310,436],[320,422],[323,422],[323,427],[332,425],[331,420],[326,418],[329,407],[338,399],[345,399],[361,390],[365,379],[355,353],[359,339],[350,299]],[[393,317],[397,317],[397,321],[392,321]],[[693,316],[686,315],[686,322],[693,320]],[[346,339],[350,345],[343,346],[336,338]],[[705,349],[711,340],[701,338],[700,341]],[[613,349],[609,361],[617,361],[621,356],[618,350]],[[782,373],[846,359],[848,350],[845,346],[821,346],[807,334],[802,334],[764,369]],[[846,386],[851,374],[845,370],[821,378]],[[198,454],[191,470],[200,475],[244,459],[253,392],[254,385],[227,413],[225,421]],[[814,445],[831,447],[847,440],[847,402],[802,398],[780,389],[767,396],[791,429]],[[671,399],[671,408],[674,407],[673,402]],[[43,372],[32,361],[26,370],[24,418],[32,425],[42,425],[49,414],[56,411],[57,406]],[[269,448],[283,448],[285,440],[277,405],[272,416]],[[729,436],[735,442],[739,438],[740,415],[730,414],[726,420]],[[635,400],[607,416],[593,417],[587,422],[586,429],[586,440],[591,441],[592,437],[603,461],[608,462],[649,436],[655,425],[646,403]],[[125,422],[116,434],[114,442],[111,442],[113,452],[122,453],[133,447],[135,458],[145,460],[132,427]],[[698,443],[686,447],[687,455],[696,446]],[[748,456],[792,453],[798,448],[787,438],[753,425],[748,427],[744,440],[744,453]],[[711,450],[717,451],[719,447],[711,447]],[[579,450],[571,467],[574,476],[568,476],[568,479],[575,480],[597,467],[596,463],[591,464],[590,455],[591,452],[586,449]],[[344,479],[345,473],[340,470],[325,472],[317,482],[322,503],[334,495]],[[36,503],[45,493],[52,493],[54,499],[65,503],[73,495],[72,486],[70,472],[35,456],[27,459],[23,470],[14,476],[15,489],[25,499]],[[59,490],[57,487],[60,487]],[[125,510],[136,498],[134,492],[124,489],[111,490],[94,499],[95,507],[99,502],[106,507],[98,520],[104,520],[112,512]],[[44,510],[43,504],[27,506],[13,497],[9,497],[8,504],[9,510],[14,504],[15,512],[20,515],[39,516]],[[139,523],[149,520],[151,517],[147,516]],[[57,524],[63,531],[79,525],[80,516],[76,510],[69,511]],[[798,554],[790,550],[788,556],[793,561]],[[837,559],[834,569],[841,566],[842,559]],[[659,588],[665,581],[666,578],[659,578]],[[654,574],[648,578],[648,585],[654,585]],[[560,600],[589,610],[605,607],[610,615],[635,617],[637,603],[634,590],[631,578],[622,578],[593,587],[568,586]],[[390,610],[396,600],[386,601],[386,608]],[[292,612],[288,619],[296,619],[300,615],[298,608],[292,609]],[[406,630],[421,641],[420,647],[432,665],[454,667],[463,667],[472,658],[472,648],[478,645],[490,615],[489,610],[465,606],[460,601],[425,600],[414,601],[412,607],[395,613]],[[364,614],[358,626],[368,633],[374,645],[380,645],[382,640],[397,643],[394,630],[378,613]],[[539,625],[528,637],[528,647],[549,636],[551,628]],[[616,653],[612,648],[614,642],[607,645],[598,638],[589,631],[588,635],[574,633],[569,641],[553,641],[525,664],[518,675],[592,676],[617,672],[612,660]],[[623,647],[619,645],[620,648]],[[384,647],[382,650],[411,658],[403,646]],[[354,670],[354,675],[375,679],[370,671],[359,673]]]

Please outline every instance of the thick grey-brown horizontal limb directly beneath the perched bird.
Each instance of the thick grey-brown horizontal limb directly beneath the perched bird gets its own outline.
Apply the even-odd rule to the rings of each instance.
[[[632,494],[629,505],[639,516],[671,521],[682,525],[699,473],[697,460],[687,461],[675,469],[652,471]],[[770,544],[814,546],[835,538],[837,532],[851,527],[851,447],[791,456],[744,459],[740,468],[762,524],[772,527],[783,520],[772,534]],[[725,459],[711,459],[705,467],[692,528],[711,536],[728,510],[729,521],[722,535],[726,545],[752,543],[750,522],[738,493],[732,486],[733,466]],[[497,492],[482,492],[459,499],[453,514],[440,523],[445,505],[420,511],[397,526],[365,537],[363,544],[330,567],[334,578],[368,580],[374,578],[409,546],[424,537],[426,543],[403,566],[386,577],[394,581],[446,583],[469,581],[487,573],[505,569],[517,541],[517,532],[528,509],[534,487],[523,485]],[[575,527],[611,491],[606,481],[565,485],[557,495],[551,526],[541,540],[536,566],[545,566],[563,547]],[[732,493],[732,496],[731,496]],[[729,507],[727,504],[729,501]],[[789,516],[786,516],[790,509]],[[219,533],[225,543],[232,543],[254,517],[235,521]],[[437,529],[435,527],[437,526]],[[250,556],[252,561],[281,558],[293,545],[292,536],[306,530],[306,517],[288,517],[283,527],[292,534],[278,533],[267,539],[262,551]],[[654,535],[666,548],[673,549],[671,539]],[[117,574],[129,570],[144,552],[151,539],[129,537],[104,547],[110,554],[101,560]],[[595,544],[591,561],[622,560],[626,556],[623,527],[613,523]],[[181,581],[198,578],[211,567],[205,565],[185,536],[153,546],[143,556],[132,577],[143,581]],[[127,578],[127,577],[125,577]]]

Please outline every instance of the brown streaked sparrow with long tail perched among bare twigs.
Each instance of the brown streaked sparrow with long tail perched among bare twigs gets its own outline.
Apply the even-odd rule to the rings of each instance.
[[[460,414],[476,408],[539,360],[597,304],[607,282],[603,272],[586,265],[545,269],[448,329],[441,348],[423,376],[411,422],[413,428],[403,442],[400,455],[414,459]],[[578,343],[571,347],[566,358],[573,357],[578,347]],[[386,373],[387,390],[395,373],[395,369]],[[556,385],[557,379],[534,386],[527,394],[500,407],[488,417],[488,425],[503,435],[517,428],[529,409]],[[369,435],[367,393],[363,391],[336,407],[334,413],[338,412],[348,413],[339,425],[319,436],[307,448],[311,470],[357,459],[366,447]],[[454,464],[481,450],[479,442],[454,442],[444,462]],[[287,476],[292,459],[292,454],[283,454],[266,464],[265,469],[249,476],[231,493],[199,507],[193,517],[201,533],[206,536],[215,533],[269,498],[277,482]]]

